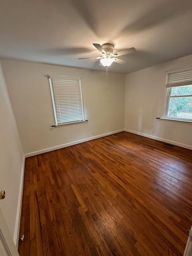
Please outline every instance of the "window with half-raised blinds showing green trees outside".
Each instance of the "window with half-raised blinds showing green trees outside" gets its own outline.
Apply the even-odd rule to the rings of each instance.
[[[165,118],[192,121],[192,69],[167,75]]]

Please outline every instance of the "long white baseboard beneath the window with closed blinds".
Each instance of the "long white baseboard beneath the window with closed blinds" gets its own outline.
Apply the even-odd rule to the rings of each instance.
[[[115,134],[115,133],[118,133],[118,132],[124,132],[124,129],[116,130],[114,132],[107,132],[107,133],[104,133],[104,134],[96,135],[96,136],[85,138],[85,139],[82,139],[82,140],[76,140],[76,141],[73,141],[73,142],[68,142],[68,143],[58,145],[58,146],[54,146],[54,147],[51,147],[51,148],[44,148],[44,149],[41,149],[41,150],[38,150],[38,151],[27,153],[27,154],[25,154],[25,157],[36,156],[36,155],[39,155],[39,154],[50,152],[52,150],[56,150],[56,149],[60,149],[60,148],[66,148],[68,146],[72,146],[72,145],[79,144],[79,143],[82,143],[82,142],[86,142],[86,141],[89,141],[89,140],[95,140],[95,139],[102,138],[102,137],[105,137],[105,136],[108,136],[108,135],[112,135],[112,134]]]

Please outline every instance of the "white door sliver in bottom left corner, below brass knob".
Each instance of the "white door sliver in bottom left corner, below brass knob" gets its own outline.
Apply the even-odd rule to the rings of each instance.
[[[1,210],[0,200],[0,256],[19,256]]]

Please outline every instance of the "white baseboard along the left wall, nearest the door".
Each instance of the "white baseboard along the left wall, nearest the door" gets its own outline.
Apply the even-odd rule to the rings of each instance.
[[[23,164],[21,171],[21,181],[20,181],[20,190],[19,190],[19,199],[18,199],[18,207],[17,207],[17,215],[16,215],[16,224],[14,231],[13,242],[18,248],[19,244],[19,230],[20,230],[20,220],[21,220],[21,206],[22,206],[22,197],[23,197],[23,183],[24,183],[24,170],[25,170],[25,155],[23,156]]]

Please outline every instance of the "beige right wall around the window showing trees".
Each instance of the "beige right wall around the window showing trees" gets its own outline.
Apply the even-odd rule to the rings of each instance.
[[[126,75],[125,128],[192,146],[192,124],[156,120],[164,116],[166,70],[190,64],[192,55]]]

